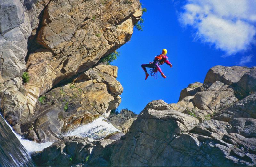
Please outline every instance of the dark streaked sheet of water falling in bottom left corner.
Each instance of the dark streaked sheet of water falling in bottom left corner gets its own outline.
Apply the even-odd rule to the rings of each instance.
[[[0,166],[35,166],[30,155],[8,125],[0,116]]]

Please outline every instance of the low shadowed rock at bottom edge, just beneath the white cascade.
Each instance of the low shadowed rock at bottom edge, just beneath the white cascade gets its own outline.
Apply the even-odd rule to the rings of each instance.
[[[114,140],[62,137],[44,151],[33,155],[39,166],[89,166],[90,154],[105,148]],[[102,163],[99,163],[102,164]]]

